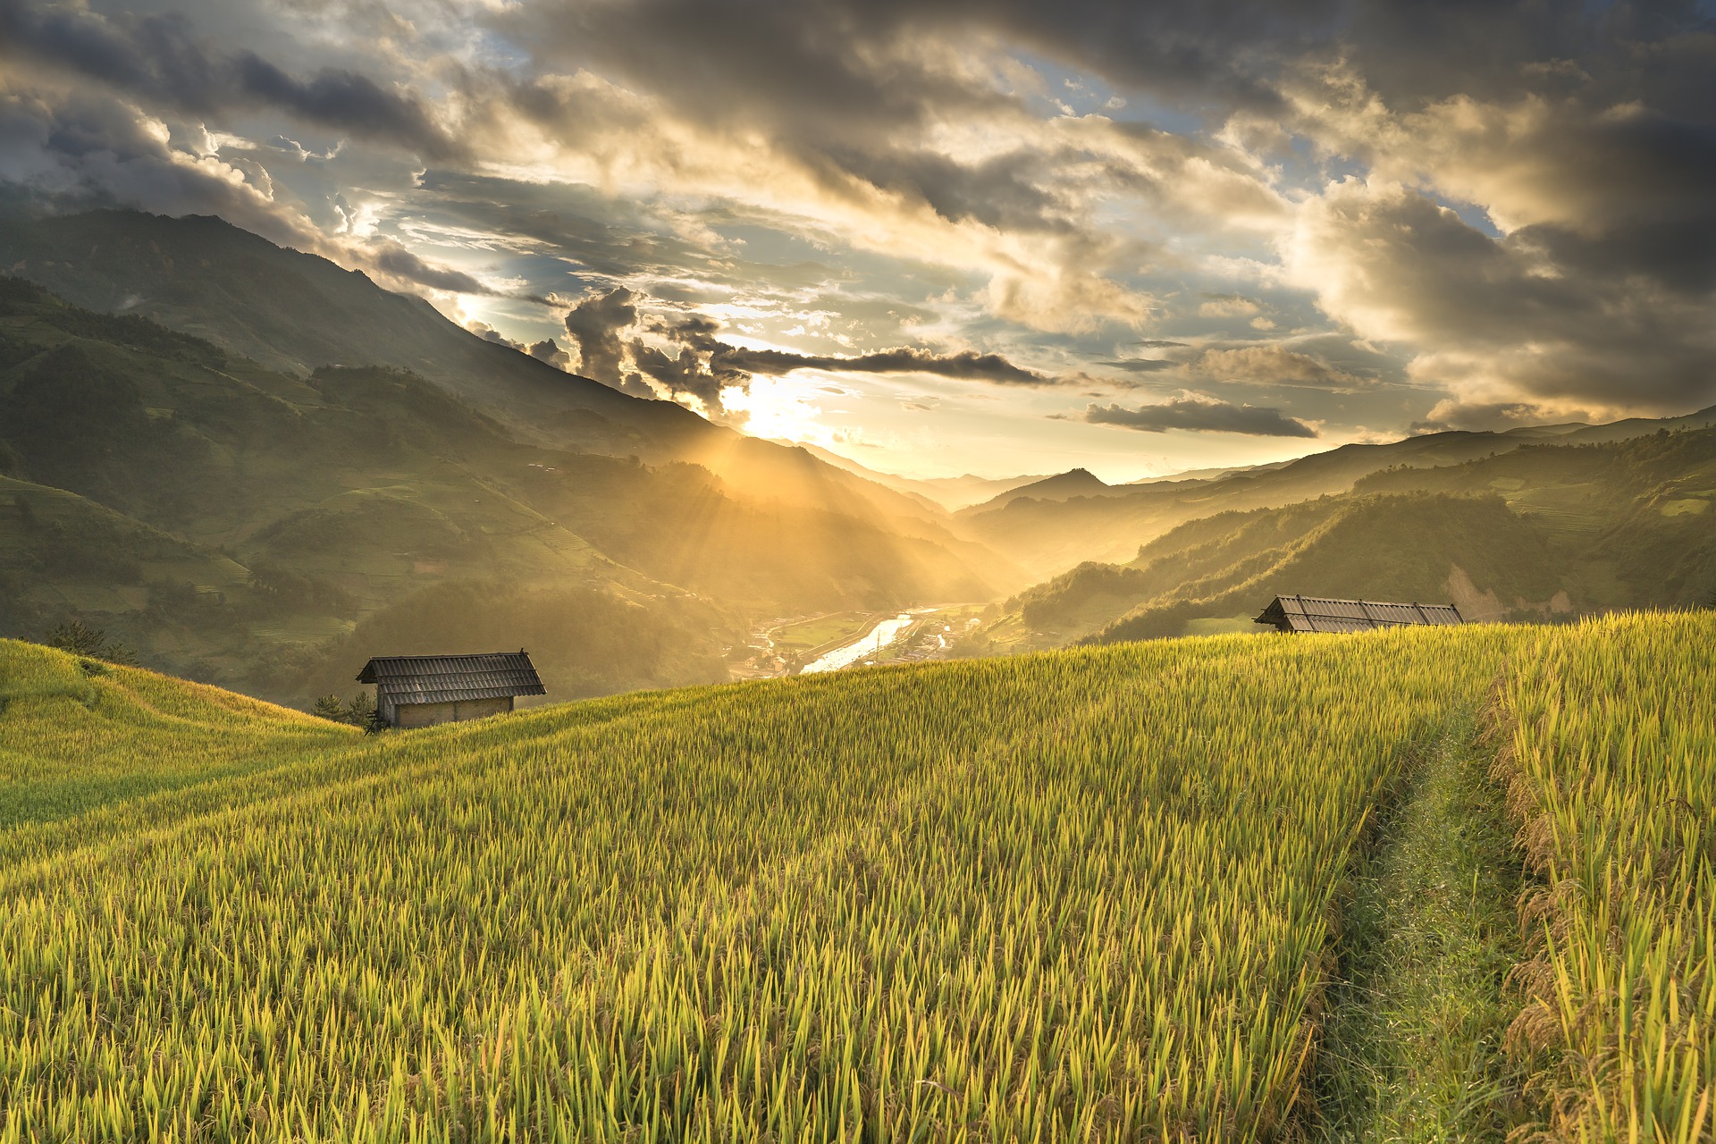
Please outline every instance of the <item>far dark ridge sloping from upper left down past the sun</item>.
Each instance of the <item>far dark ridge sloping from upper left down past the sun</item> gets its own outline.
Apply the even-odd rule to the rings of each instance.
[[[276,374],[379,365],[432,381],[508,434],[544,448],[700,465],[755,501],[906,530],[1018,587],[1028,576],[954,537],[939,504],[865,480],[805,449],[714,425],[674,401],[566,374],[450,322],[360,271],[276,247],[220,218],[139,211],[0,216],[0,268],[96,312],[124,312],[213,343]]]

